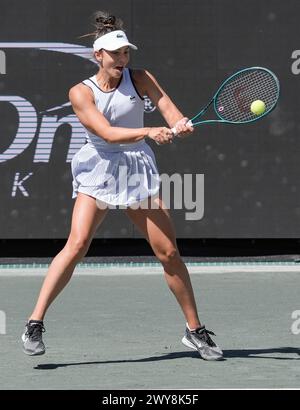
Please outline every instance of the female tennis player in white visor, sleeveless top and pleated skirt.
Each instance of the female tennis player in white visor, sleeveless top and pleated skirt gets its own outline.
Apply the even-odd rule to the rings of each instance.
[[[125,208],[161,262],[169,288],[186,319],[182,342],[206,360],[221,359],[221,349],[200,323],[188,270],[176,245],[170,214],[159,196],[160,181],[154,153],[146,139],[169,144],[176,127],[181,136],[193,132],[152,74],[131,70],[131,44],[120,19],[95,13],[93,44],[99,71],[71,88],[69,98],[86,128],[87,143],[72,160],[73,197],[76,197],[71,232],[62,251],[53,259],[37,304],[22,335],[28,355],[45,353],[43,320],[49,305],[69,282],[76,264],[88,251],[96,229],[109,207]],[[144,127],[147,95],[168,127]],[[134,184],[132,183],[134,179]],[[145,206],[145,204],[147,206]]]

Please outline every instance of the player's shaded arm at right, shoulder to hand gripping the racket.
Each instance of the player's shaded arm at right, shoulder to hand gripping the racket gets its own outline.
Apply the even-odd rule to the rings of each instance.
[[[141,95],[147,95],[150,98],[170,128],[176,125],[180,133],[193,131],[193,127],[185,126],[188,119],[179,111],[151,73],[146,70],[135,70],[133,78],[138,90],[143,93]]]

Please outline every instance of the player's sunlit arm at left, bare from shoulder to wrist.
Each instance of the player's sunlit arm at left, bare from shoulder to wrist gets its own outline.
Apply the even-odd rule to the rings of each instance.
[[[91,89],[84,84],[72,87],[69,98],[79,121],[93,134],[101,136],[108,143],[138,142],[150,133],[150,128],[112,127],[97,109]]]

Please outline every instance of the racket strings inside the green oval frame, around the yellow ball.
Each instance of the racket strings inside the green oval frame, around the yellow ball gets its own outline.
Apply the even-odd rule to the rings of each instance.
[[[234,76],[220,90],[216,97],[215,109],[226,121],[248,122],[257,119],[251,112],[253,101],[262,100],[268,113],[278,99],[279,86],[276,78],[268,71],[254,69]]]

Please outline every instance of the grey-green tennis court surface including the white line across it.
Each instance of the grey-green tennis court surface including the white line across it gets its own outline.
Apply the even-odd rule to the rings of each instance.
[[[292,318],[300,310],[299,265],[195,263],[189,270],[222,362],[205,362],[181,344],[184,318],[151,263],[77,268],[48,312],[46,355],[25,356],[20,335],[46,267],[1,265],[0,389],[299,388],[300,324]]]

